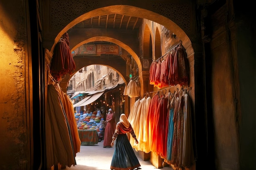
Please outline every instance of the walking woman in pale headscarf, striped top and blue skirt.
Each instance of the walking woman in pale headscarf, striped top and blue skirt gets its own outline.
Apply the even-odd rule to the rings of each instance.
[[[110,166],[111,170],[140,169],[138,168],[141,166],[139,160],[137,159],[127,137],[128,132],[130,132],[132,137],[135,139],[136,144],[138,144],[139,142],[126,115],[121,114],[115,129],[115,133],[112,137],[113,140],[111,146],[114,145],[115,141],[115,149]]]

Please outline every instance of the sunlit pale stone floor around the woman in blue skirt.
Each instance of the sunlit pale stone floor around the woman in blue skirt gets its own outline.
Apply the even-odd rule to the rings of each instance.
[[[67,167],[66,170],[110,170],[110,163],[114,148],[103,148],[103,141],[92,146],[81,146],[76,154],[76,166]],[[139,159],[141,170],[173,170],[171,167],[155,168],[150,161]]]

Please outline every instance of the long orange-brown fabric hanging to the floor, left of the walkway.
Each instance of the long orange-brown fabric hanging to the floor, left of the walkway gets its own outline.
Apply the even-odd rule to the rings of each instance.
[[[76,165],[75,154],[70,137],[70,125],[61,101],[57,84],[47,86],[47,107],[45,111],[45,150],[46,167],[60,163],[62,166]]]

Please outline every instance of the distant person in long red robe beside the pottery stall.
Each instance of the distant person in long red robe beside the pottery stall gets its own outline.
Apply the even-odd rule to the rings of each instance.
[[[112,147],[111,146],[112,136],[114,135],[115,127],[116,127],[115,116],[111,108],[108,109],[108,114],[104,124],[106,127],[104,132],[103,148],[110,148]]]

